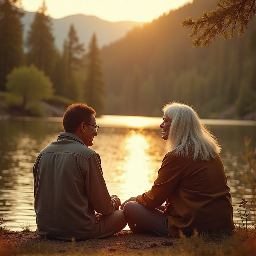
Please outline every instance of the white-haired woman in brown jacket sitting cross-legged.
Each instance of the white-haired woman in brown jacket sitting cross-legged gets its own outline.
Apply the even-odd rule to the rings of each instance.
[[[186,104],[167,104],[163,113],[167,154],[157,179],[151,190],[121,206],[131,231],[177,237],[195,229],[232,230],[230,188],[216,138]]]

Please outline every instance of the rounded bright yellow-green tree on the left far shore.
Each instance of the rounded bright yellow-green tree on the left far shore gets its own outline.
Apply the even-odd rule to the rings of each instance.
[[[8,76],[6,88],[23,109],[29,102],[49,99],[53,95],[52,82],[44,72],[32,64],[15,68]],[[17,104],[17,103],[16,103]]]

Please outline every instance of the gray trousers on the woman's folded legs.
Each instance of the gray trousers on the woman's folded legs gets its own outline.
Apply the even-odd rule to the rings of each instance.
[[[162,205],[156,209],[147,209],[140,203],[127,202],[123,212],[128,218],[128,226],[133,233],[155,233],[168,236],[168,218]]]

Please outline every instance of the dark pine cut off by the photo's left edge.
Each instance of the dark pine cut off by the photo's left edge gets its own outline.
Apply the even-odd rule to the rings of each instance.
[[[23,64],[24,15],[15,7],[15,0],[0,0],[0,90],[5,90],[6,75]]]

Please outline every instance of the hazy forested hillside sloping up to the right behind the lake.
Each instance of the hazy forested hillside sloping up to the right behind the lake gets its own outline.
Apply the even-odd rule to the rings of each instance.
[[[104,47],[105,113],[160,116],[173,100],[189,102],[203,118],[219,118],[227,109],[230,118],[254,111],[255,17],[244,37],[217,37],[198,49],[180,26],[187,16],[215,8],[216,0],[195,0]]]

